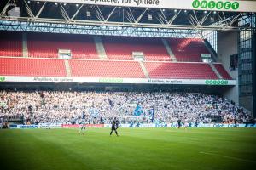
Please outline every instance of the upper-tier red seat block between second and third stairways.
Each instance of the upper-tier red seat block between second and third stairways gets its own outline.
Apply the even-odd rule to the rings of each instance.
[[[145,60],[170,61],[160,38],[102,37],[108,59],[132,60],[132,52],[143,52]]]

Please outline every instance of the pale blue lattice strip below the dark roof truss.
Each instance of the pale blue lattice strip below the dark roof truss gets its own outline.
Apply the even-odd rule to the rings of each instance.
[[[127,37],[199,37],[194,30],[137,28],[127,26],[79,26],[72,24],[39,23],[27,21],[0,20],[0,30],[32,31],[67,34],[87,34]]]

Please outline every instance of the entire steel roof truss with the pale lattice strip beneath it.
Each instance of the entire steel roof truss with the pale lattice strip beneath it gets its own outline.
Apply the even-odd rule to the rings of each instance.
[[[20,17],[8,16],[17,6]],[[154,8],[121,8],[73,3],[37,3],[8,0],[0,8],[0,29],[75,34],[144,37],[191,37],[205,30],[240,31],[245,13]]]

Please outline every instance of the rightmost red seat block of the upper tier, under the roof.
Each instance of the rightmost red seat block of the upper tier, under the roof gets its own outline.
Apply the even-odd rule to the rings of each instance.
[[[181,62],[200,62],[201,54],[210,54],[199,38],[172,38],[169,44],[177,61]]]

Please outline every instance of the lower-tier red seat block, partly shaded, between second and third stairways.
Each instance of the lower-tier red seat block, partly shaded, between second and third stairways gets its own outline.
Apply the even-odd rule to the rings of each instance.
[[[218,79],[208,64],[146,62],[151,78]]]

